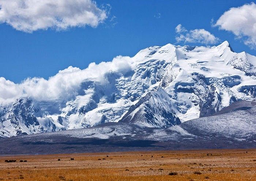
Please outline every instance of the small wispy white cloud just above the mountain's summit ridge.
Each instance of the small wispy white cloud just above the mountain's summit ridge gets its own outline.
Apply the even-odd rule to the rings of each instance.
[[[181,24],[178,24],[175,28],[177,42],[188,43],[203,43],[203,44],[215,44],[219,42],[219,38],[215,37],[209,31],[204,29],[186,30]]]

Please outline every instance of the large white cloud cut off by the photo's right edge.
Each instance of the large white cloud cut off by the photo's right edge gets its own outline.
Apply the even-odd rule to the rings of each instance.
[[[214,26],[231,31],[241,38],[245,45],[256,49],[256,4],[245,4],[224,12]]]

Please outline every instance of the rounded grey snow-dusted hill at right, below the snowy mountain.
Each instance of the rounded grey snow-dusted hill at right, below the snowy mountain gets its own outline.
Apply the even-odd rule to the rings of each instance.
[[[197,118],[165,130],[155,131],[148,139],[175,140],[180,137],[229,138],[251,140],[256,145],[256,102],[239,101],[213,116]]]

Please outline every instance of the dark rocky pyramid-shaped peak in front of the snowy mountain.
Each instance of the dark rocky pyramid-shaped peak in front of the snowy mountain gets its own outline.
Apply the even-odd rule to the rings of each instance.
[[[142,127],[170,127],[180,124],[169,96],[162,88],[153,89],[129,108],[120,122]]]

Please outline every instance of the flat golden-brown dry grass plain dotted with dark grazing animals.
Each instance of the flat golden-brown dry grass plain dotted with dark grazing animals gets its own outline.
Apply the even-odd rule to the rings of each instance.
[[[0,180],[256,181],[256,149],[8,156]]]

